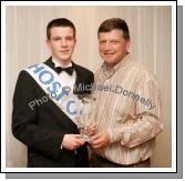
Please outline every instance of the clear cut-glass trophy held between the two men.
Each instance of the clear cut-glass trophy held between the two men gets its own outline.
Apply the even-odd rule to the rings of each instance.
[[[93,120],[93,104],[95,98],[92,94],[78,95],[76,104],[76,124],[80,133],[85,141],[90,141],[90,133],[95,127]]]

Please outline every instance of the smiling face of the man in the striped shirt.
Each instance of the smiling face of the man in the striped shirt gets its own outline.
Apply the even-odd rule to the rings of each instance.
[[[125,57],[129,46],[130,40],[124,40],[122,30],[99,33],[99,52],[109,67],[115,66]]]

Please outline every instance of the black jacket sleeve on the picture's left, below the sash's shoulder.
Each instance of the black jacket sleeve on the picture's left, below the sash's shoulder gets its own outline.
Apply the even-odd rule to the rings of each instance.
[[[35,81],[21,71],[13,95],[12,133],[29,148],[58,159],[64,133],[38,124],[38,109],[30,107],[35,99]]]

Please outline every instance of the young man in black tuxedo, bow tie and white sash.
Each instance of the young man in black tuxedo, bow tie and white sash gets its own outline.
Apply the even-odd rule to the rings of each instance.
[[[91,71],[72,62],[75,27],[54,19],[47,27],[51,57],[20,72],[13,97],[12,133],[28,145],[28,167],[89,167],[84,140],[74,120],[74,94],[93,83]]]

